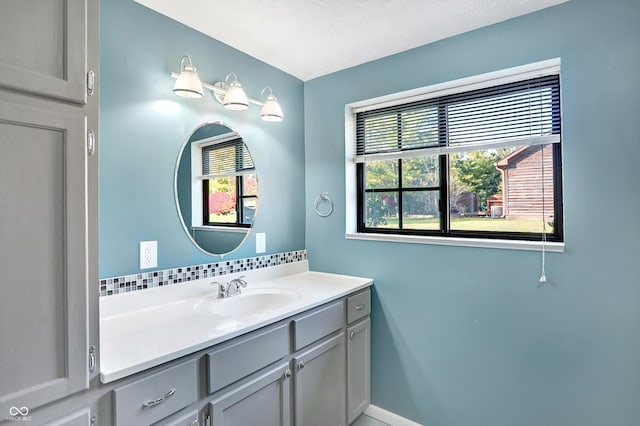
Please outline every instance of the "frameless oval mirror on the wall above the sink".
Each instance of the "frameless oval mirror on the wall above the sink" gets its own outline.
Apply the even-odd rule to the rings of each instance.
[[[258,207],[258,179],[242,137],[205,123],[185,141],[174,176],[178,216],[191,241],[222,256],[242,244]]]

